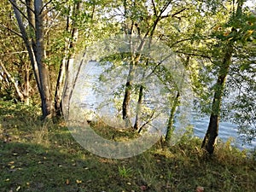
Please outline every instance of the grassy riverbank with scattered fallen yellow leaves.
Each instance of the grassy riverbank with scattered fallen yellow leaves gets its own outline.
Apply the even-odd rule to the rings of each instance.
[[[38,108],[0,102],[1,192],[189,192],[197,186],[214,192],[256,189],[253,155],[231,148],[230,143],[218,143],[215,154],[208,156],[200,148],[200,139],[184,137],[166,150],[157,143],[135,157],[110,160],[82,148],[65,123],[42,123],[38,112]],[[116,140],[129,137],[108,127],[101,134]]]

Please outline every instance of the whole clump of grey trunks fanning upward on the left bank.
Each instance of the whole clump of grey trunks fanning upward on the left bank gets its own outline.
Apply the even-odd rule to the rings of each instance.
[[[26,44],[32,64],[41,98],[43,119],[61,115],[64,82],[66,82],[68,89],[73,86],[73,84],[68,83],[70,82],[68,73],[70,73],[69,66],[72,66],[74,61],[76,41],[79,38],[79,25],[82,26],[89,17],[87,13],[81,15],[81,1],[68,1],[67,9],[65,4],[57,1],[44,3],[43,0],[26,0],[26,2],[17,3],[15,0],[9,0],[9,2],[13,6],[15,19],[21,33],[20,37]],[[67,16],[66,28],[61,28],[60,24],[64,21],[61,14],[64,18]],[[54,30],[58,30],[60,36],[57,36]],[[61,35],[64,38],[61,38]],[[52,46],[54,39],[61,43],[56,45],[56,48]],[[59,58],[55,60],[57,57],[61,60]],[[58,68],[57,62],[61,63],[60,68]],[[56,68],[57,81],[55,79]],[[56,82],[55,97],[52,91],[54,90],[53,84],[50,82]],[[64,99],[67,99],[70,90],[66,90],[64,95]]]

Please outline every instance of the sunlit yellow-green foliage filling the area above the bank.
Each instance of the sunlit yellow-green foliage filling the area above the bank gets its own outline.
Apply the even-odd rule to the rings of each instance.
[[[7,73],[3,73],[3,67],[0,67],[0,96],[16,102],[30,99],[32,103],[40,103],[29,55],[26,51],[24,52],[26,46],[22,44],[10,2],[10,0],[3,1],[0,6],[0,35],[2,38],[0,60],[17,86],[11,83],[7,78]],[[14,3],[14,1],[12,2]],[[32,23],[28,22],[28,18],[26,18],[28,14],[26,10],[29,9],[24,2],[18,1],[17,5],[19,11],[23,13],[22,21],[29,40],[31,44],[34,44],[35,40],[32,38],[35,39],[35,33],[34,29],[31,29],[33,28],[31,27]],[[81,50],[110,36],[132,34],[140,38],[154,38],[166,44],[177,54],[189,74],[189,78],[186,80],[189,82],[189,89],[193,90],[191,95],[195,96],[195,110],[199,111],[201,115],[209,115],[212,110],[214,91],[218,90],[218,86],[214,85],[215,79],[223,66],[227,45],[233,44],[232,63],[227,79],[228,87],[224,90],[224,101],[229,100],[229,102],[224,102],[221,113],[222,118],[231,119],[240,127],[241,136],[252,141],[255,138],[253,115],[255,108],[253,107],[255,106],[256,17],[253,14],[253,8],[246,6],[242,7],[241,13],[237,13],[237,16],[235,10],[237,3],[241,2],[243,1],[43,1],[45,4],[41,13],[44,13],[45,65],[43,66],[49,67],[49,90],[58,92],[57,85],[60,82],[62,85],[68,82],[67,79],[61,79],[61,74],[64,74],[63,77],[65,77],[65,73],[72,73],[69,74],[70,76],[78,74],[72,72],[70,69],[72,67],[67,69],[68,65],[73,66],[73,58]],[[81,6],[79,9],[76,8],[78,5]],[[74,36],[76,32],[79,33],[78,37]],[[32,46],[32,49],[34,48],[35,46]],[[116,65],[115,67],[123,65],[128,71],[131,59],[132,55],[111,55],[105,58],[105,61],[112,61]],[[147,58],[140,59],[143,62],[143,67],[148,65],[147,69],[154,69],[156,63],[149,61],[146,64]],[[181,104],[177,102],[177,110],[173,108],[173,100],[177,96],[175,84],[172,84],[173,74],[168,73],[166,68],[161,66],[156,72],[159,84],[163,84],[166,88],[159,94],[159,100],[162,103],[158,107],[161,112],[165,111],[167,122],[170,116],[177,117]],[[100,76],[100,80],[105,83],[111,82],[113,79],[109,78],[110,74],[111,70],[107,69]],[[115,107],[119,109],[116,116],[121,116],[121,100],[125,95],[127,74],[123,75],[124,78],[121,79],[120,86],[113,91]],[[144,96],[150,95],[148,93],[149,83],[144,87],[142,84],[132,84],[131,96],[136,101],[133,104],[134,108],[137,109],[140,90],[142,90],[141,96],[143,94]],[[72,92],[74,84],[66,85],[66,88],[68,87]],[[94,89],[102,91],[104,94],[105,85],[102,84],[102,89],[97,87]],[[21,99],[17,90],[20,90],[21,97],[23,95],[26,99]],[[232,95],[234,90],[238,90],[236,96]],[[54,91],[51,91],[49,98],[54,98],[53,93]],[[52,105],[56,101],[61,104],[61,98],[65,96],[61,93],[59,100],[56,98],[56,94],[55,99],[52,99],[49,104]],[[181,100],[184,99],[183,96],[180,97]],[[104,104],[102,103],[102,105]],[[172,111],[174,115],[168,117]],[[148,105],[144,105],[139,113],[134,112],[134,115],[135,113],[142,125],[148,122],[148,119],[152,119],[154,116],[152,113],[156,114]]]

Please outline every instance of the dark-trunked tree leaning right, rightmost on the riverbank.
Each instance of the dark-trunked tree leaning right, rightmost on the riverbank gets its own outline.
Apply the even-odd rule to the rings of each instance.
[[[244,22],[248,21],[247,16],[243,13],[243,3],[245,1],[239,0],[236,2],[236,12],[233,12],[233,15],[230,15],[230,20],[227,22],[225,27],[230,27],[228,32],[220,32],[217,37],[220,39],[220,44],[222,49],[222,59],[221,63],[218,65],[218,76],[217,82],[214,86],[214,96],[212,100],[212,111],[210,116],[210,122],[208,125],[206,136],[202,142],[201,148],[206,148],[209,154],[212,154],[214,151],[216,139],[218,137],[218,124],[221,114],[221,106],[224,96],[225,81],[227,76],[230,73],[230,67],[232,66],[233,57],[237,51],[237,47],[245,46],[241,44],[247,40],[245,36],[247,32],[251,32],[250,27],[248,28],[247,24]],[[235,6],[235,4],[233,4]],[[246,26],[246,27],[245,27]],[[252,33],[252,32],[251,32]],[[237,46],[237,47],[236,47]],[[219,61],[219,60],[218,60]]]

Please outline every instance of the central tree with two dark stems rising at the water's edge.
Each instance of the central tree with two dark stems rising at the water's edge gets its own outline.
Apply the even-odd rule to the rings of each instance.
[[[137,33],[139,45],[137,47],[137,52],[140,52],[144,49],[144,43],[146,38],[154,38],[154,33],[157,30],[157,26],[160,21],[165,18],[174,18],[178,14],[182,13],[184,8],[178,9],[177,12],[171,13],[170,6],[172,1],[163,1],[161,3],[155,3],[154,0],[150,2],[148,6],[145,6],[146,2],[137,1],[131,3],[130,7],[128,3],[124,2],[125,9],[125,32],[133,35],[134,32]],[[150,6],[150,7],[149,7]],[[153,11],[150,11],[153,10]],[[129,15],[131,13],[131,15]],[[129,25],[130,21],[130,25]],[[130,27],[128,27],[130,26]],[[150,43],[149,43],[150,49]],[[129,73],[127,76],[127,81],[125,84],[125,96],[123,100],[122,112],[123,119],[125,119],[127,126],[132,126],[130,122],[129,115],[129,102],[131,100],[131,87],[132,87],[132,79],[134,76],[134,68],[137,67],[138,61],[141,58],[141,54],[134,54],[134,48],[131,46],[131,62],[129,65]],[[145,61],[145,65],[147,66],[147,61]],[[135,130],[139,128],[139,113],[140,106],[143,98],[143,85],[139,88],[138,93],[138,101],[137,101],[137,114],[135,124],[132,126]]]

